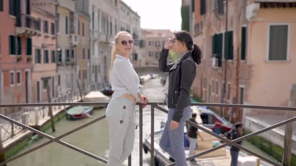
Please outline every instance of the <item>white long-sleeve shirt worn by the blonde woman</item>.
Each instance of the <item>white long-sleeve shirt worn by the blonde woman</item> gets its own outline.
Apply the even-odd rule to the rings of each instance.
[[[131,94],[136,101],[139,101],[138,93],[140,79],[129,59],[116,54],[115,61],[111,70],[111,87],[114,93],[111,100],[114,100],[124,94]]]

